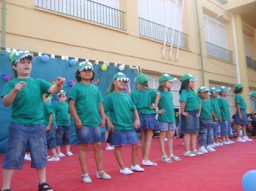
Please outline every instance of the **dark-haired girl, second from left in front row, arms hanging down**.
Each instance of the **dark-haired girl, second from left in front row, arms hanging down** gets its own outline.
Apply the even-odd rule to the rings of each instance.
[[[75,121],[75,134],[79,144],[79,162],[82,170],[82,181],[91,183],[87,169],[87,147],[92,143],[94,159],[97,166],[96,178],[110,179],[102,169],[101,130],[105,126],[103,98],[100,89],[90,83],[95,77],[93,64],[81,62],[75,73],[77,83],[72,86],[68,97],[68,106]],[[101,122],[99,123],[99,112]]]

